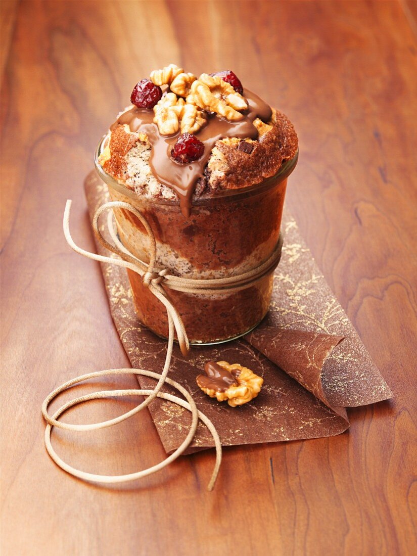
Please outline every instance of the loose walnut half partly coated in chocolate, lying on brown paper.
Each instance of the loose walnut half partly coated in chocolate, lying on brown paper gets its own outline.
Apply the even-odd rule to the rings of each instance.
[[[201,390],[217,401],[226,401],[232,408],[246,404],[259,394],[264,379],[239,363],[227,361],[206,363],[205,375],[198,375],[196,383]]]

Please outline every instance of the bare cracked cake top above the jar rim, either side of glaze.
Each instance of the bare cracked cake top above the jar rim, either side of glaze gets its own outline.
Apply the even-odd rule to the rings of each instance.
[[[257,119],[254,125],[259,131],[257,140],[226,138],[215,143],[193,198],[254,186],[274,176],[285,161],[296,155],[297,135],[282,112],[273,109],[269,122]],[[127,125],[119,124],[111,132],[100,163],[106,173],[137,195],[178,200],[172,188],[153,176],[148,165],[151,148],[146,133],[131,132]]]

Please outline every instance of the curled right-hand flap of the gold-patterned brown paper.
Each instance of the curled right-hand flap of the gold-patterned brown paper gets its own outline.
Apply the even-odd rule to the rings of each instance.
[[[315,365],[318,360],[313,358],[311,365],[305,367],[307,376],[303,373],[301,384],[332,406],[354,407],[392,398],[391,390],[332,294],[289,214],[284,216],[283,227],[284,246],[275,272],[270,311],[246,340],[299,380],[291,357],[291,342],[297,350],[300,332],[312,335],[312,347],[317,344],[314,340],[317,334],[342,336],[344,341],[333,346],[321,366]],[[285,345],[290,344],[289,349],[282,349],[283,341]],[[304,341],[301,346],[305,349]]]

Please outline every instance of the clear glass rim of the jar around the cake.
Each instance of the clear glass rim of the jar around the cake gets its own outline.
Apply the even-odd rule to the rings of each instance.
[[[123,185],[123,183],[118,182],[113,176],[105,172],[100,162],[98,162],[98,157],[100,157],[102,152],[103,143],[108,139],[109,135],[110,135],[109,133],[103,135],[101,140],[98,142],[97,148],[95,150],[94,163],[95,163],[96,171],[98,175],[101,177],[101,179],[108,186],[122,193],[122,195],[126,195],[127,197],[137,200],[138,198],[140,198],[140,196],[134,190],[126,187],[126,185]],[[222,192],[217,192],[215,196],[204,197],[204,198],[197,199],[195,201],[193,200],[192,204],[193,206],[201,206],[201,205],[207,205],[216,200],[219,201],[220,199],[224,199],[225,197],[235,197],[243,194],[251,195],[251,194],[264,192],[270,186],[281,183],[290,175],[290,173],[294,170],[297,164],[298,156],[299,156],[299,150],[297,148],[297,152],[295,153],[295,155],[292,158],[290,158],[290,160],[286,160],[279,168],[279,170],[274,174],[274,176],[270,176],[266,178],[264,181],[261,181],[259,183],[256,183],[255,185],[251,185],[248,187],[226,189],[223,190]],[[155,203],[157,205],[178,205],[179,204],[179,199],[169,200],[169,199],[161,199],[161,198],[156,199],[151,197],[143,197],[143,200],[146,202]]]

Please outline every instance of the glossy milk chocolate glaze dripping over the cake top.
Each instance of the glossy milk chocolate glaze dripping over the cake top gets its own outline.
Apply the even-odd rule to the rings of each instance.
[[[197,180],[203,176],[203,170],[216,141],[226,137],[257,139],[259,134],[253,121],[260,118],[267,122],[272,116],[271,107],[255,93],[246,90],[245,97],[249,108],[242,113],[241,120],[229,122],[225,118],[209,116],[207,125],[196,134],[204,144],[203,156],[190,164],[179,164],[172,160],[171,149],[180,132],[168,137],[160,135],[158,126],[153,123],[153,110],[133,106],[117,118],[110,130],[112,131],[117,125],[126,124],[131,132],[146,133],[152,145],[149,159],[152,173],[158,181],[177,192],[180,197],[181,212],[188,217],[191,213],[191,199]]]

